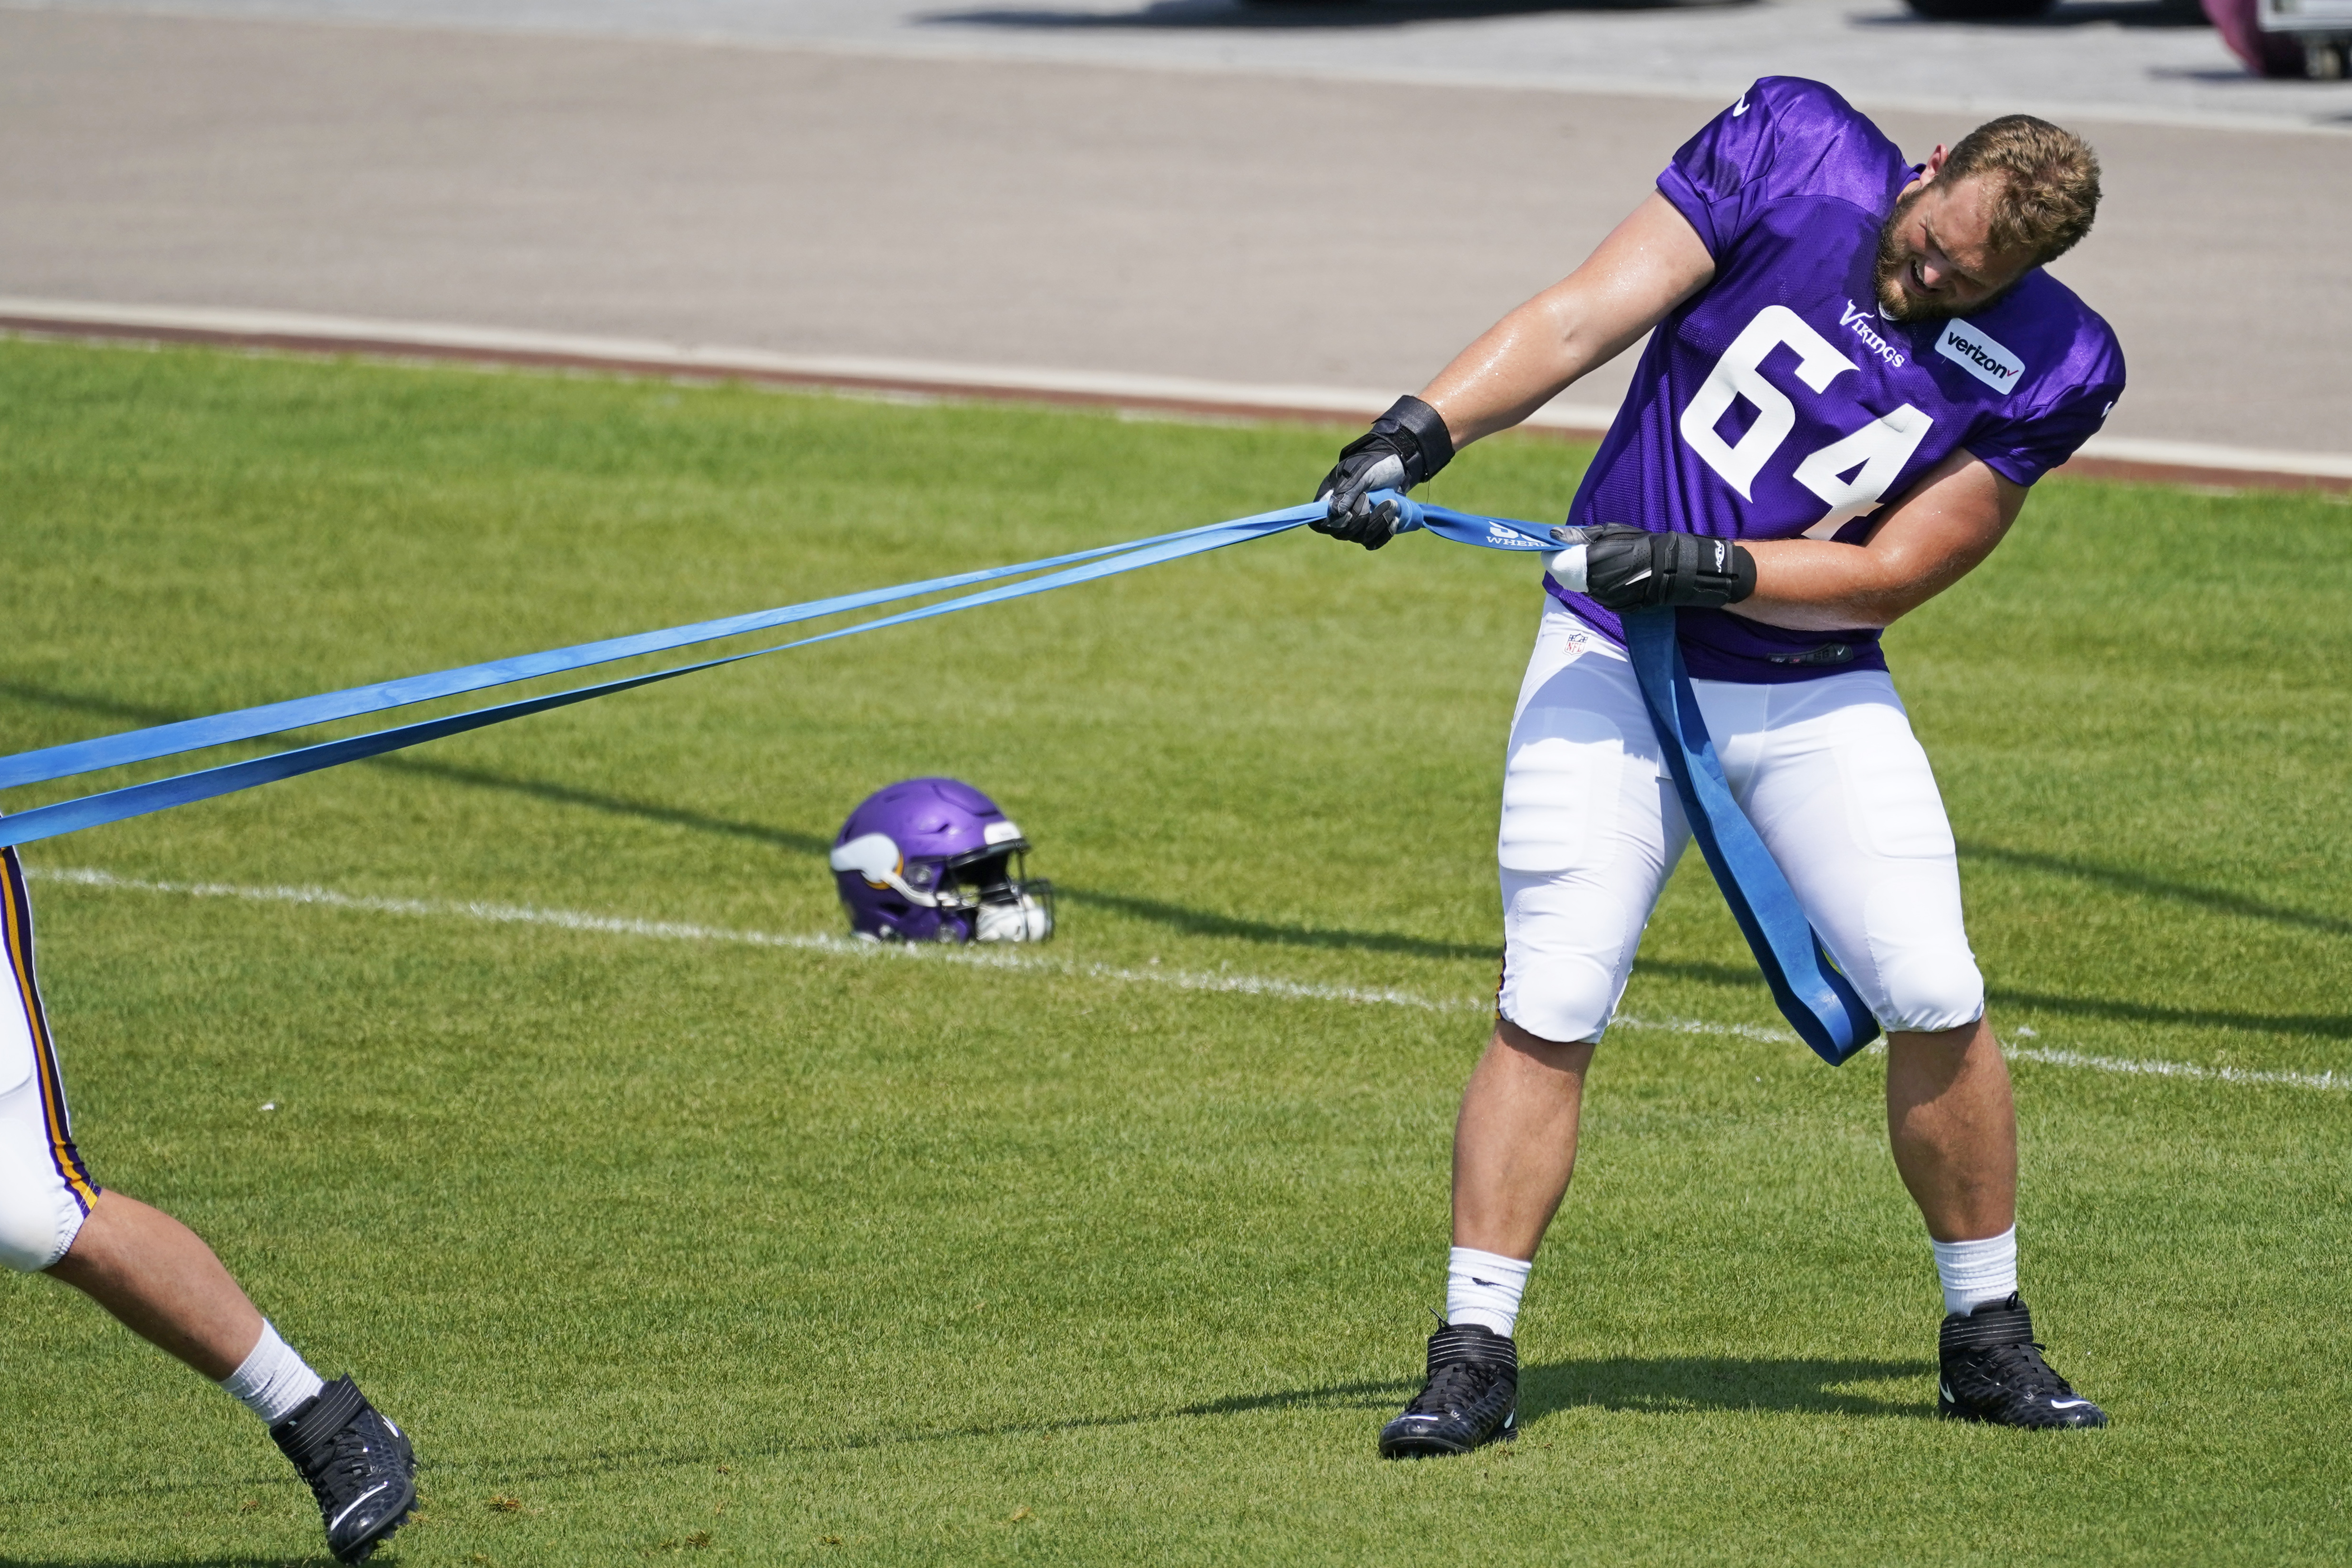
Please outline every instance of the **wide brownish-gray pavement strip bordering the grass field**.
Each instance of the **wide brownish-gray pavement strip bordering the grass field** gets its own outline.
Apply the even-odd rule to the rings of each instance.
[[[19,9],[0,294],[1409,388],[1705,113]],[[1969,118],[1882,122],[1924,153]],[[2112,195],[2058,270],[2131,357],[2112,433],[2352,449],[2352,216],[2312,200],[2345,141],[2096,132]]]

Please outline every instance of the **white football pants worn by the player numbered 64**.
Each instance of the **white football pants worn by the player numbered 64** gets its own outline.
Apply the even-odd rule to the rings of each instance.
[[[1733,797],[1879,1025],[1973,1023],[1952,827],[1886,672],[1691,684]],[[1550,604],[1503,771],[1503,1018],[1597,1041],[1689,837],[1632,663]]]

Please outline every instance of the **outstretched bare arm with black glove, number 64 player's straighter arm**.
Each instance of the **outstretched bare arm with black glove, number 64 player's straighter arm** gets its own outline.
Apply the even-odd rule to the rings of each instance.
[[[1489,327],[1418,397],[1399,397],[1348,442],[1315,491],[1329,498],[1329,512],[1310,527],[1378,550],[1395,508],[1374,508],[1367,494],[1411,489],[1470,442],[1519,423],[1625,353],[1712,277],[1715,256],[1698,230],[1651,193],[1581,268]]]

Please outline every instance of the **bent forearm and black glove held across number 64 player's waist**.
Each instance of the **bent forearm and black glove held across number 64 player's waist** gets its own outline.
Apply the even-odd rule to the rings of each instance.
[[[1731,543],[1635,527],[1595,529],[1552,576],[1609,609],[1726,607],[1799,632],[1893,625],[1992,555],[2025,487],[1955,451],[1889,505],[1860,545],[1835,538]]]

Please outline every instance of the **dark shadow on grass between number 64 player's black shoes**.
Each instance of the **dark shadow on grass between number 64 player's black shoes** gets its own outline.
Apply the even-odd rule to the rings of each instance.
[[[1849,1392],[1858,1382],[1926,1378],[1931,1361],[1832,1356],[1597,1356],[1548,1361],[1519,1373],[1519,1425],[1555,1410],[1599,1408],[1675,1415],[1691,1410],[1792,1410],[1799,1415],[1931,1418],[1933,1401]]]

